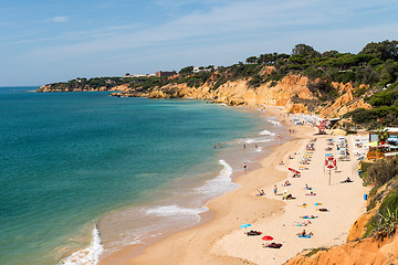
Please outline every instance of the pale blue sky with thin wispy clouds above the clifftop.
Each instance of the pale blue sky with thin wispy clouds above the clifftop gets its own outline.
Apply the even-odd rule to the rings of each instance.
[[[3,0],[0,86],[231,65],[262,53],[358,53],[398,40],[396,0]]]

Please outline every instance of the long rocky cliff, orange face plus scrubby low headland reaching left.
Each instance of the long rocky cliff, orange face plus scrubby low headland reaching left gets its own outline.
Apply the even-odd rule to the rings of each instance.
[[[122,85],[113,84],[106,80],[102,85],[94,83],[91,86],[80,80],[69,83],[56,83],[44,85],[38,92],[86,92],[86,91],[118,91],[113,96],[123,97],[149,97],[149,98],[196,98],[224,103],[228,105],[272,105],[284,106],[287,113],[315,113],[325,118],[339,117],[341,115],[356,108],[370,108],[363,97],[354,96],[354,87],[350,83],[332,83],[328,89],[335,93],[335,99],[320,100],[324,92],[317,88],[322,81],[311,81],[301,74],[289,74],[279,81],[266,81],[273,66],[264,66],[259,71],[260,82],[253,85],[253,76],[233,77],[229,72],[213,72],[199,85],[189,85],[188,82],[178,82],[180,76],[167,80],[166,84],[160,82],[149,88],[136,86],[133,83]],[[191,76],[185,76],[188,80]],[[223,80],[221,85],[217,85]],[[128,82],[128,81],[125,81]],[[130,81],[132,82],[132,81]],[[315,85],[313,85],[315,84]],[[310,89],[310,87],[313,87]],[[321,87],[322,88],[322,87]]]

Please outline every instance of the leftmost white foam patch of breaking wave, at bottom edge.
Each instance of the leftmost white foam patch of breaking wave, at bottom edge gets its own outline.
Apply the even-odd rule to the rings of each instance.
[[[60,265],[97,265],[100,255],[103,253],[104,247],[101,244],[100,231],[94,226],[93,240],[91,245],[82,251],[73,253],[71,256],[63,258]]]

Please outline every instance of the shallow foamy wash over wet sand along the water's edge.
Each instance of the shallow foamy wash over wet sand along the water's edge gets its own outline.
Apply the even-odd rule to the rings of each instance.
[[[104,258],[107,255],[114,253],[115,251],[123,250],[126,246],[130,247],[128,244],[134,244],[132,246],[132,250],[134,253],[138,254],[142,253],[148,245],[151,245],[182,230],[187,230],[200,225],[203,222],[207,222],[208,220],[212,219],[213,213],[212,211],[209,211],[206,208],[206,204],[213,198],[231,190],[229,188],[230,186],[237,187],[233,183],[232,179],[244,173],[242,169],[243,160],[248,162],[250,169],[260,167],[256,161],[260,158],[266,156],[270,152],[270,150],[274,148],[273,147],[274,142],[272,142],[274,140],[273,136],[277,134],[282,134],[281,130],[282,127],[272,125],[272,121],[268,123],[270,120],[269,119],[270,117],[259,112],[258,109],[249,108],[249,107],[239,107],[239,108],[234,108],[234,110],[239,113],[248,113],[248,114],[251,113],[250,117],[252,116],[252,114],[254,114],[256,116],[256,119],[253,118],[253,121],[250,121],[253,125],[252,126],[253,128],[248,130],[247,128],[242,127],[243,128],[242,134],[239,137],[228,138],[226,142],[222,142],[224,144],[224,148],[221,149],[218,148],[219,151],[216,151],[216,155],[211,157],[211,162],[214,165],[217,163],[219,168],[216,168],[214,171],[205,172],[202,174],[197,173],[198,170],[192,171],[193,173],[197,173],[197,176],[199,177],[198,178],[199,181],[197,183],[192,182],[193,184],[187,182],[188,186],[186,188],[188,188],[188,190],[187,189],[181,190],[180,188],[184,188],[185,186],[181,184],[181,187],[179,187],[180,183],[178,181],[175,183],[170,182],[171,186],[170,184],[168,186],[178,187],[177,189],[179,189],[181,193],[171,192],[176,195],[166,197],[165,199],[166,201],[165,200],[158,201],[159,203],[156,203],[156,201],[154,201],[153,203],[139,204],[138,206],[127,205],[126,208],[116,209],[114,211],[109,211],[103,214],[101,218],[98,218],[95,221],[95,226],[98,229],[101,234],[100,246],[103,251],[101,252],[95,251],[97,250],[97,247],[95,246],[95,244],[93,244],[94,241],[92,237],[91,244],[87,245],[87,247],[72,251],[71,254],[64,255],[65,256],[64,258],[62,259],[60,258],[61,263],[63,264],[64,262],[71,262],[71,261],[73,262],[73,258],[75,256],[78,256],[78,258],[81,259],[86,259],[84,255],[88,252],[96,255],[96,257]],[[226,112],[231,112],[231,110],[226,110]],[[271,118],[271,120],[274,119],[275,117]],[[243,142],[247,142],[248,148],[244,149],[242,148]],[[259,149],[254,149],[254,142],[259,144]],[[212,145],[210,146],[210,149],[213,149]],[[222,163],[222,160],[224,159],[228,161],[228,162],[223,161],[226,165]],[[232,168],[232,172],[230,171],[231,168]],[[198,169],[200,171],[200,168]],[[227,176],[229,177],[226,178]],[[165,187],[167,188],[167,186]],[[199,195],[202,194],[202,197],[197,197],[197,194]],[[176,201],[176,199],[178,200]],[[155,211],[153,213],[149,213],[149,210],[151,209],[155,209]],[[138,214],[140,215],[136,220],[139,221],[134,223],[135,220],[133,220],[129,216],[137,216],[137,215],[132,215],[129,213],[133,213],[134,211],[137,210],[138,210]],[[182,221],[186,222],[184,224],[181,224],[180,222],[176,224],[172,221],[170,225],[167,224],[168,220],[165,220],[166,222],[159,223],[160,225],[157,225],[153,231],[147,232],[146,230],[147,227],[151,229],[154,226],[150,227],[149,225],[147,225],[148,223],[146,223],[145,221],[143,222],[143,218],[140,218],[146,215],[146,210],[148,210],[149,213],[149,215],[147,215],[149,216],[148,218],[149,224],[158,222],[159,219],[169,219],[175,221],[177,221],[176,219],[187,220],[187,218],[185,216],[188,216],[189,214],[195,220],[190,218],[191,221],[190,222]],[[160,214],[157,214],[157,211]],[[161,211],[165,211],[166,214],[163,215]],[[198,212],[195,213],[195,211]],[[180,212],[181,214],[179,214],[179,216],[182,215],[182,218],[174,218],[172,212]],[[126,215],[124,215],[124,213],[126,213]],[[168,215],[170,218],[168,218]],[[114,222],[115,220],[117,220],[118,223],[115,223]],[[113,223],[115,223],[118,226],[114,226]],[[91,231],[90,229],[87,229],[87,231],[92,232],[93,234],[93,231]],[[127,233],[124,233],[124,231],[127,231]],[[95,253],[93,251],[95,251]],[[91,255],[92,254],[90,255],[87,254],[87,256]]]

